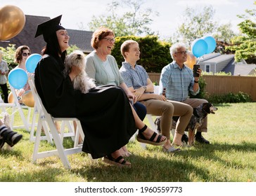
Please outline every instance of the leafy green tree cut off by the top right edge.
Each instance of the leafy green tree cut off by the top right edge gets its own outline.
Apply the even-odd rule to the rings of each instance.
[[[256,1],[254,2],[256,5]],[[248,63],[256,63],[256,9],[245,10],[247,15],[238,15],[238,18],[245,19],[238,24],[242,35],[231,40],[233,45],[226,47],[235,52],[236,62],[246,59]]]

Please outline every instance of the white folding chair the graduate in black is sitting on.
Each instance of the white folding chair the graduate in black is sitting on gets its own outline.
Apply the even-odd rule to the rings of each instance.
[[[29,84],[30,84],[30,88],[32,90],[32,94],[34,96],[34,100],[36,102],[37,110],[39,113],[39,120],[37,123],[37,133],[34,141],[34,152],[32,155],[32,161],[36,162],[37,159],[39,158],[46,158],[46,157],[51,157],[53,155],[58,155],[60,160],[63,162],[63,165],[69,169],[70,162],[68,161],[67,155],[80,153],[82,151],[82,144],[79,144],[79,136],[81,136],[82,139],[84,139],[84,132],[82,131],[82,125],[77,118],[53,118],[53,116],[51,116],[51,114],[49,114],[46,111],[46,109],[44,108],[44,105],[41,102],[41,98],[39,97],[39,94],[37,94],[37,90],[34,85],[34,78],[31,78],[31,80],[29,80]],[[61,122],[64,121],[65,123],[75,121],[77,123],[74,146],[72,148],[63,147],[62,134],[58,134],[58,131],[56,130],[56,126],[54,124],[55,121],[61,121]],[[41,141],[40,139],[41,127],[46,125],[48,125],[49,127],[49,132],[51,133],[51,137],[56,145],[56,150],[39,152],[39,144]]]

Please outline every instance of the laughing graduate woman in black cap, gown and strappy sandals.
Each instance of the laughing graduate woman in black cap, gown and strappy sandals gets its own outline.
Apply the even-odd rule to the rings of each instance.
[[[52,116],[80,120],[84,132],[82,151],[90,153],[92,158],[104,157],[110,164],[130,167],[120,148],[129,142],[137,128],[140,142],[160,146],[166,138],[143,124],[129,104],[129,99],[135,97],[127,97],[120,87],[98,86],[86,94],[73,88],[72,80],[81,70],[73,66],[68,77],[63,75],[70,36],[59,25],[60,19],[61,15],[37,27],[35,37],[42,34],[46,41],[43,57],[35,69],[37,92]]]

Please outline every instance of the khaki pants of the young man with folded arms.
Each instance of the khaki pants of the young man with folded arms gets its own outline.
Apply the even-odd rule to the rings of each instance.
[[[184,134],[186,126],[191,119],[193,108],[188,104],[181,102],[169,101],[163,102],[158,99],[148,99],[146,101],[141,101],[147,109],[147,113],[154,116],[161,116],[160,128],[162,135],[170,138],[170,129],[172,127],[172,116],[180,116],[177,125],[176,132],[179,134]]]

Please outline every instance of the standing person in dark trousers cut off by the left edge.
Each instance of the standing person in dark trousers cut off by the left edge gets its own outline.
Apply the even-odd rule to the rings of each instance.
[[[8,76],[8,64],[3,59],[3,52],[0,50],[0,86],[4,94],[4,103],[8,103],[8,87],[7,87],[7,76]]]

